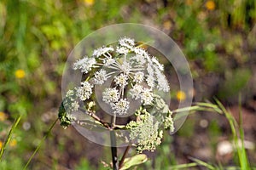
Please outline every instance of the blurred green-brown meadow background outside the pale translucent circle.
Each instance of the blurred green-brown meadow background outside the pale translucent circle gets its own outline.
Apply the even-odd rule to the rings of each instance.
[[[2,0],[0,148],[15,117],[22,117],[0,169],[24,167],[55,121],[62,71],[74,46],[92,31],[124,22],[154,26],[177,42],[189,60],[195,101],[215,96],[236,112],[241,93],[246,139],[256,140],[256,1]],[[184,97],[176,91],[173,96],[177,101]],[[230,136],[223,119],[205,113],[189,116],[178,133],[166,133],[162,146],[138,169],[169,169],[189,162],[189,156],[233,165],[236,158],[219,157],[217,152],[218,142]],[[109,155],[108,147],[57,124],[30,169],[96,169],[101,161],[110,161]],[[255,158],[250,151],[251,163]]]

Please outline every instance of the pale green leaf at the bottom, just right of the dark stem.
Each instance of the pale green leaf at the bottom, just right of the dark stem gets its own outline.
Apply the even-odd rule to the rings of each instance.
[[[135,165],[140,165],[148,160],[145,154],[125,158],[123,166],[119,170],[125,170]]]

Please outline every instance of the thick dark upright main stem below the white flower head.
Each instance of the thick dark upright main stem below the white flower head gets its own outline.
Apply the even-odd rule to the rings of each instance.
[[[111,141],[113,170],[118,170],[119,169],[119,161],[118,161],[118,156],[117,156],[116,137],[115,137],[115,133],[113,130],[110,131],[110,141]]]

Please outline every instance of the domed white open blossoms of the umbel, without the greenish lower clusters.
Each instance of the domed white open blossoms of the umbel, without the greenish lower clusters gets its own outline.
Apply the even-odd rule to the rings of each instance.
[[[73,69],[85,75],[90,72],[87,81],[75,88],[82,101],[90,99],[95,85],[102,85],[112,77],[112,88],[103,91],[102,100],[117,115],[125,115],[129,110],[126,92],[131,99],[140,99],[143,105],[153,105],[155,90],[170,90],[164,66],[129,37],[119,39],[116,47],[95,49],[91,57],[76,61]]]

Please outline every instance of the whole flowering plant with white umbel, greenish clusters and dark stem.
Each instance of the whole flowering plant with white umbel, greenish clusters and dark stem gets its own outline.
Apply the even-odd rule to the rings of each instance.
[[[115,45],[115,46],[114,46]],[[164,74],[164,65],[130,37],[123,37],[112,46],[104,46],[73,63],[73,69],[83,73],[79,87],[67,91],[63,99],[59,118],[61,126],[75,122],[88,122],[75,116],[76,112],[90,116],[97,126],[110,131],[113,169],[131,167],[117,157],[116,138],[124,137],[127,148],[135,146],[138,153],[154,151],[163,138],[162,127],[174,131],[172,111],[166,104],[169,83]],[[101,99],[96,99],[96,87],[102,87]],[[164,94],[164,95],[163,95]],[[105,107],[97,111],[96,103]],[[100,106],[101,106],[100,105]],[[136,109],[135,106],[137,106]],[[108,122],[98,112],[111,115]],[[126,124],[118,124],[117,117],[133,117]],[[127,133],[116,133],[123,129]],[[126,135],[126,136],[125,136]],[[144,155],[142,155],[144,156]],[[139,159],[137,157],[137,159]],[[138,164],[136,161],[133,164]]]

